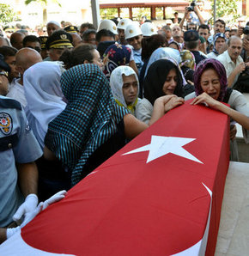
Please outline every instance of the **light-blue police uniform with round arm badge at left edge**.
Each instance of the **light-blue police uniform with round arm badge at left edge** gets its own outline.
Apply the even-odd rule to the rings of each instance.
[[[34,162],[41,155],[21,104],[0,95],[0,227],[12,222],[23,202],[15,162]]]

